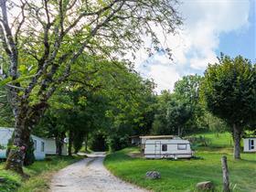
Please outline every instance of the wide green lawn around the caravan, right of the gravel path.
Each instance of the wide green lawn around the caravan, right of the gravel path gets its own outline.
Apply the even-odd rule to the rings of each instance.
[[[126,148],[108,155],[104,164],[116,176],[154,191],[195,191],[197,182],[210,180],[221,191],[222,173],[220,158],[228,156],[229,178],[234,191],[256,192],[256,154],[242,154],[242,160],[235,161],[229,143],[229,133],[205,135],[210,146],[197,147],[200,159],[191,160],[146,160],[132,158],[128,153],[137,150]],[[159,171],[162,178],[149,180],[147,171]]]

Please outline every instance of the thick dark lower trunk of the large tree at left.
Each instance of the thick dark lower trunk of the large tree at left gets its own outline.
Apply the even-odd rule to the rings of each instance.
[[[14,147],[10,150],[10,153],[6,160],[5,169],[16,171],[23,175],[23,163],[29,142],[30,130],[26,125],[26,120],[18,118],[16,120]]]

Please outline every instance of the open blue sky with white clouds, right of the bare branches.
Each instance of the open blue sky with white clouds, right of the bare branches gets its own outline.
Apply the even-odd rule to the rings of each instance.
[[[160,92],[172,91],[176,80],[185,75],[203,74],[208,63],[218,62],[220,52],[256,62],[255,4],[255,0],[183,0],[179,11],[185,21],[178,35],[165,39],[155,27],[160,41],[173,50],[173,60],[164,52],[148,58],[141,49],[135,69],[153,79],[155,91]]]

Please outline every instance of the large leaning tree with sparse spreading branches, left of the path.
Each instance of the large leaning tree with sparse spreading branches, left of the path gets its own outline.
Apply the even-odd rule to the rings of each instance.
[[[175,32],[181,24],[176,4],[176,0],[0,0],[0,54],[5,65],[1,79],[15,117],[16,145],[5,168],[23,173],[29,135],[83,52],[123,56],[142,46],[144,34],[152,37],[151,48],[159,50],[152,25]]]

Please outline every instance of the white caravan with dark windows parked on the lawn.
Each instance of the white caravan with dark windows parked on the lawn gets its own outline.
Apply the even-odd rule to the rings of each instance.
[[[145,158],[191,158],[193,152],[187,140],[173,135],[141,136]]]

